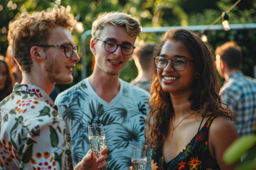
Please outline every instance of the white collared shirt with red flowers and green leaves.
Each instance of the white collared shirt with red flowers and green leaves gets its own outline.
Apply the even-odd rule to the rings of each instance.
[[[38,86],[15,84],[0,103],[0,169],[65,169],[65,122]]]

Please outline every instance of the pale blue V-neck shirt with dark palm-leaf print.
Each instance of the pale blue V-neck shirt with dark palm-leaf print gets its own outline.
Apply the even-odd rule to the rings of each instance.
[[[59,113],[68,124],[74,165],[90,149],[88,125],[99,123],[104,125],[106,145],[109,147],[109,165],[105,169],[129,169],[132,165],[132,145],[144,142],[149,93],[122,79],[119,81],[119,94],[110,103],[97,96],[88,79],[63,91],[56,98]]]

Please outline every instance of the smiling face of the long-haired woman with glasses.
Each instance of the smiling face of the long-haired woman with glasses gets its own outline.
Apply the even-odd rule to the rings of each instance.
[[[177,58],[183,57],[186,60],[193,60],[187,47],[181,41],[168,40],[161,49],[161,57]],[[193,62],[186,62],[186,67],[182,71],[176,71],[172,67],[171,60],[164,69],[156,69],[159,82],[164,91],[176,94],[183,91],[191,91],[193,81],[195,81],[196,69]]]

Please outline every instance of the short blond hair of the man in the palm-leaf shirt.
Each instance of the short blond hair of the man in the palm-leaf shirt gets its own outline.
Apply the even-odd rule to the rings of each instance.
[[[92,23],[92,38],[98,38],[101,30],[107,25],[124,27],[129,36],[136,38],[141,32],[140,23],[127,13],[109,12],[101,13]]]

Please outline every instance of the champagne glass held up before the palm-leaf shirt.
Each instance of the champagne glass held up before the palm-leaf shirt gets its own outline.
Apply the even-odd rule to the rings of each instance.
[[[94,152],[96,159],[100,158],[100,152],[105,148],[105,132],[103,125],[89,125],[88,137],[92,152]]]

